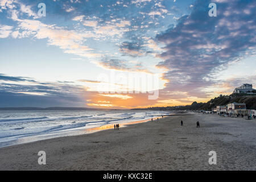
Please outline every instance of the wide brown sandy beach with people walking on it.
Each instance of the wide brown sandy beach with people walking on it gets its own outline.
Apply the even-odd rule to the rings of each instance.
[[[46,152],[46,165],[38,164],[39,151]],[[216,151],[216,165],[209,165],[209,151]],[[3,147],[0,169],[255,170],[255,151],[255,119],[198,113]]]

